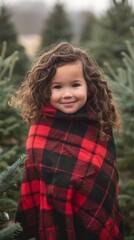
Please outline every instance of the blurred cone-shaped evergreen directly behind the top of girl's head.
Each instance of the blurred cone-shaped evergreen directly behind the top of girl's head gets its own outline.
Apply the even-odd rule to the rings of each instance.
[[[41,49],[62,41],[70,42],[72,29],[67,13],[60,3],[56,3],[42,30]]]

